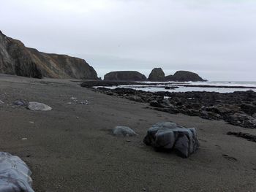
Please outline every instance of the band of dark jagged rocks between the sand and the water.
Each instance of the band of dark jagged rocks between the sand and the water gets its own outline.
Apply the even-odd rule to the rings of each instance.
[[[82,84],[83,87],[93,87],[86,85],[88,84]],[[256,93],[254,91],[151,93],[135,91],[131,88],[92,89],[111,96],[148,103],[154,110],[199,116],[208,120],[225,120],[234,126],[256,128]]]

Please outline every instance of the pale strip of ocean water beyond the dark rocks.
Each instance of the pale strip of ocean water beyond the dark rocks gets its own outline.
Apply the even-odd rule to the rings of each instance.
[[[235,91],[255,91],[256,82],[227,82],[227,81],[209,81],[209,82],[142,82],[143,85],[118,85],[105,88],[132,88],[141,91],[168,91],[168,92],[187,92],[187,91],[208,91],[219,93],[233,93]],[[154,85],[152,85],[154,84]],[[195,87],[187,87],[185,85],[195,85]],[[211,88],[202,88],[202,85],[211,85]],[[177,87],[172,89],[166,89],[164,87]],[[227,86],[227,88],[219,88],[217,86]],[[239,87],[243,88],[239,88]]]

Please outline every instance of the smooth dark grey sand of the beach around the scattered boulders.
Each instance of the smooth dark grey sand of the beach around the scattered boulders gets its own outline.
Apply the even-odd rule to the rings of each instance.
[[[256,191],[256,143],[227,135],[255,129],[151,110],[79,83],[0,76],[1,151],[29,165],[35,191]],[[67,104],[72,96],[89,104]],[[53,110],[13,108],[17,99]],[[197,128],[200,149],[180,158],[144,145],[147,129],[163,121]],[[118,125],[138,137],[113,137]]]

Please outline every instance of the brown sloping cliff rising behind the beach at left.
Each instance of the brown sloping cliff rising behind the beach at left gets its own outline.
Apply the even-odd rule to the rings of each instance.
[[[0,73],[24,77],[97,80],[97,72],[83,59],[41,53],[0,31]]]

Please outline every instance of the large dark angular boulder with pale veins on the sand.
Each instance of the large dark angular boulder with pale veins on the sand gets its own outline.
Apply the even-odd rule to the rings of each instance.
[[[183,158],[188,158],[199,147],[195,128],[184,128],[173,122],[151,126],[143,142],[156,150],[175,150]]]

